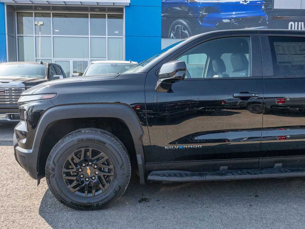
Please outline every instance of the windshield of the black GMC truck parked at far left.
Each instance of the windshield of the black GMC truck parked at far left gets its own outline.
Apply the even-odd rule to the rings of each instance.
[[[0,64],[0,76],[25,76],[45,78],[46,65],[43,64]]]

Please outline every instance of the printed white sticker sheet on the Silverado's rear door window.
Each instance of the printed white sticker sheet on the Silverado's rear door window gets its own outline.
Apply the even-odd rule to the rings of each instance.
[[[305,42],[274,42],[278,64],[305,65]]]

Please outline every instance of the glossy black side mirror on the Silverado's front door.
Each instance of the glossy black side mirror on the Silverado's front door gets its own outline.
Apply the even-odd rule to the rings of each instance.
[[[173,92],[171,85],[185,78],[186,66],[184,61],[170,61],[163,64],[159,72],[156,92]]]

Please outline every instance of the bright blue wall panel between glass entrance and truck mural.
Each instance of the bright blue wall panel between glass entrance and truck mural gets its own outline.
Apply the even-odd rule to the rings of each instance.
[[[161,50],[161,0],[131,0],[125,10],[126,60],[141,62]]]

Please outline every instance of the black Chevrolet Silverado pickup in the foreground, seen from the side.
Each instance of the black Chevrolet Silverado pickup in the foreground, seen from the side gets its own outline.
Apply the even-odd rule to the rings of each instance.
[[[43,83],[18,101],[16,160],[79,209],[113,204],[131,169],[141,184],[305,176],[304,68],[304,32],[248,29]]]

